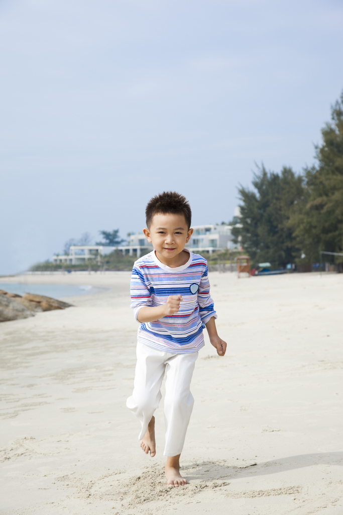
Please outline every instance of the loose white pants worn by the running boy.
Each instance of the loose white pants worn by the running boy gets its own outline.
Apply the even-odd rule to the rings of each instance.
[[[180,454],[185,442],[194,399],[190,383],[198,353],[172,354],[152,349],[138,342],[137,365],[132,396],[127,407],[140,421],[142,428],[138,436],[143,438],[148,424],[161,400],[161,384],[165,371],[165,456]]]

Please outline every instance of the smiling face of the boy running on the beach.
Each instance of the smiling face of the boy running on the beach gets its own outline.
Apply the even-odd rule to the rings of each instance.
[[[143,229],[148,242],[164,258],[175,258],[182,252],[192,235],[183,214],[161,214],[153,216],[150,229]]]

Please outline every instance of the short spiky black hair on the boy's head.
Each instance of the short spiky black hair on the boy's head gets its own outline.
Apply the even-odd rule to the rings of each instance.
[[[163,192],[151,198],[146,208],[146,222],[147,227],[150,229],[152,218],[157,213],[167,214],[180,214],[184,215],[188,229],[192,223],[192,211],[188,200],[183,195],[176,192]]]

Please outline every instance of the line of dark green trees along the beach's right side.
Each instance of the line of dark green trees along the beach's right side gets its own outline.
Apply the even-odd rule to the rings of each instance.
[[[262,165],[254,190],[239,188],[241,213],[230,225],[254,265],[313,264],[322,251],[343,253],[343,91],[321,134],[316,163],[301,174],[285,166],[279,174],[268,172]],[[343,256],[331,259],[342,268]]]

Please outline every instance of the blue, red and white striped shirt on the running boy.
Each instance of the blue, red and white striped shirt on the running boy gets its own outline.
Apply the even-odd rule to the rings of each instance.
[[[139,325],[138,341],[163,352],[187,354],[204,345],[203,328],[216,318],[206,260],[189,253],[188,262],[177,268],[161,263],[153,250],[139,258],[132,270],[131,307],[136,320],[143,306],[165,304],[169,295],[182,295],[180,309],[174,315]]]

